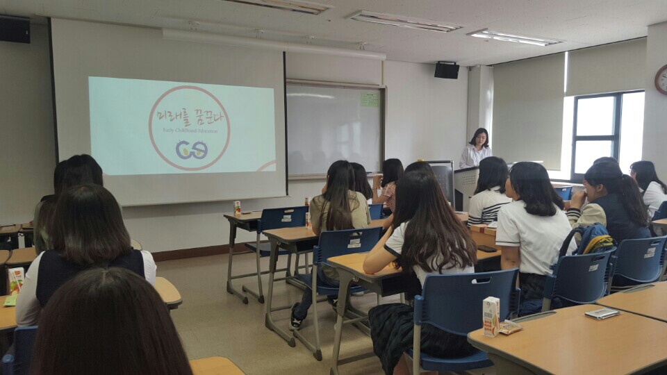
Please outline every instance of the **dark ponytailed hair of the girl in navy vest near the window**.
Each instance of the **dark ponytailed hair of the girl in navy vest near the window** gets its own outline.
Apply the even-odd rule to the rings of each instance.
[[[620,171],[617,163],[593,164],[584,174],[584,180],[588,185],[603,185],[607,194],[620,194],[620,201],[623,201],[630,221],[639,226],[648,225],[648,212],[639,187],[632,177]]]

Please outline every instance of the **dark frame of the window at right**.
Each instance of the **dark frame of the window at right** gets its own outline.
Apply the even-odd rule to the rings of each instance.
[[[621,119],[623,118],[623,95],[634,94],[636,92],[645,92],[645,90],[630,90],[620,92],[607,92],[603,94],[578,95],[575,96],[575,103],[573,108],[573,123],[572,123],[572,159],[570,161],[570,182],[582,183],[584,181],[584,174],[575,173],[575,164],[577,161],[577,141],[611,141],[611,157],[618,160],[620,157],[620,128]],[[577,115],[579,111],[580,99],[593,99],[601,97],[614,98],[614,115],[612,117],[613,132],[611,135],[577,135]]]

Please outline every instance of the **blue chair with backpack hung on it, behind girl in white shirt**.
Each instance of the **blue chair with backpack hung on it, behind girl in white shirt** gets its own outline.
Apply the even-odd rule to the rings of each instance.
[[[561,257],[554,273],[546,276],[542,311],[551,309],[552,299],[559,297],[572,303],[595,303],[607,294],[614,273],[611,254],[616,248],[576,256]]]

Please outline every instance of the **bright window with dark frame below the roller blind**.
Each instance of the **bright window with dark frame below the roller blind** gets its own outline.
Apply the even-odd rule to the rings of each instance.
[[[610,156],[627,173],[641,160],[644,92],[574,97],[570,181],[580,182],[593,161]]]

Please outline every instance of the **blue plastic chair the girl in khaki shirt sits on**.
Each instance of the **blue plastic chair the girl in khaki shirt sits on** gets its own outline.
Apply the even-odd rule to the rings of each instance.
[[[320,349],[320,325],[318,321],[318,295],[338,295],[338,287],[318,281],[318,268],[327,264],[327,260],[333,256],[343,256],[352,253],[365,253],[370,251],[380,239],[381,227],[363,229],[347,229],[345,231],[327,231],[320,235],[320,244],[313,247],[313,267],[311,274],[298,275],[306,285],[310,285],[313,293],[313,322],[315,324],[315,344],[309,342],[299,331],[293,331],[293,335],[303,342],[313,352],[315,359],[322,360]],[[356,286],[349,288],[350,294],[363,292],[363,288]]]

